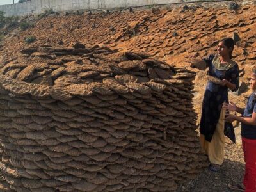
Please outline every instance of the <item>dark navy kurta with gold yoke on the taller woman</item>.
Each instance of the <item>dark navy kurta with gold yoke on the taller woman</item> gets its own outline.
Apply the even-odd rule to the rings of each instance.
[[[237,63],[232,62],[229,67],[221,68],[220,61],[217,55],[209,55],[204,59],[209,67],[209,76],[217,77],[218,79],[227,79],[232,84],[236,84],[236,91],[239,86],[239,68]],[[200,133],[205,136],[205,140],[211,142],[212,136],[216,129],[216,125],[220,118],[220,112],[223,102],[228,103],[228,88],[220,84],[208,81],[204,100],[202,104],[202,116],[200,121]],[[224,133],[233,142],[236,141],[232,124],[225,122]]]

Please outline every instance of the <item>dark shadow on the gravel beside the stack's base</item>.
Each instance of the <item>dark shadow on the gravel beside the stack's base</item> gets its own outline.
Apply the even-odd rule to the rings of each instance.
[[[225,159],[219,172],[205,169],[197,179],[185,184],[178,190],[191,192],[230,192],[228,183],[241,183],[244,175],[244,163]]]

